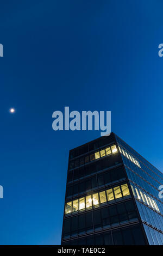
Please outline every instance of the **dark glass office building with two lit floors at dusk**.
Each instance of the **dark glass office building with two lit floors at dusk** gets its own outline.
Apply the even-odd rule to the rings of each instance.
[[[115,133],[70,150],[62,245],[163,245],[163,174]]]

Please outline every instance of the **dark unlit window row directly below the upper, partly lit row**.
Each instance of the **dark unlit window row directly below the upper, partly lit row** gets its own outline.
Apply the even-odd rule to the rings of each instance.
[[[106,157],[100,159],[98,162],[91,162],[77,169],[69,170],[67,174],[67,182],[84,178],[85,176],[95,174],[106,168],[115,167],[115,165],[120,164],[120,161],[120,155],[114,155],[109,159]]]

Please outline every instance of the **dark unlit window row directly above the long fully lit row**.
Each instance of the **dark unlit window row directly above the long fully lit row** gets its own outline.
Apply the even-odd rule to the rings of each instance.
[[[124,178],[126,178],[126,174],[122,168],[111,169],[105,173],[98,175],[96,174],[96,176],[84,179],[84,181],[75,182],[72,185],[68,185],[66,190],[66,197],[72,197],[73,195],[92,190],[98,186],[109,185],[111,182],[115,182]]]

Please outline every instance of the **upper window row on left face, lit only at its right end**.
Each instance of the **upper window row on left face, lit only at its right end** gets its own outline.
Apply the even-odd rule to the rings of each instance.
[[[83,165],[84,163],[88,163],[97,159],[100,159],[103,156],[111,155],[117,153],[116,145],[112,145],[111,147],[102,149],[100,151],[97,151],[95,153],[92,153],[90,155],[86,155],[84,157],[80,157],[74,161],[70,161],[69,169],[72,169],[74,167],[78,167]]]

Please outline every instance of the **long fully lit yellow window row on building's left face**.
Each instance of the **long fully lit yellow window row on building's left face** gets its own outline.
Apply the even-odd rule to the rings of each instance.
[[[130,194],[127,184],[110,188],[106,191],[90,194],[89,196],[82,197],[71,202],[66,203],[65,214],[70,214],[74,211],[89,209],[92,206],[99,206],[99,204],[107,201],[115,200],[121,197],[126,197]]]

